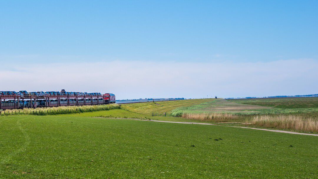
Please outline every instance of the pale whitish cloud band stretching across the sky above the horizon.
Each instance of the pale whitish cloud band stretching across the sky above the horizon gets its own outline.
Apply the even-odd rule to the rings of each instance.
[[[258,63],[112,61],[2,65],[2,90],[112,92],[118,99],[318,93],[313,59]]]

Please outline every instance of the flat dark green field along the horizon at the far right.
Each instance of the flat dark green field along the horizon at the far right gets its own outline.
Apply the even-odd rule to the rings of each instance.
[[[228,100],[240,104],[250,104],[277,108],[318,108],[318,97],[306,98],[257,98]]]

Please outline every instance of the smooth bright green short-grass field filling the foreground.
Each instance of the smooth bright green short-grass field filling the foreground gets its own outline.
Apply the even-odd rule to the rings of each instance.
[[[0,178],[318,175],[316,136],[74,115],[0,118]]]

